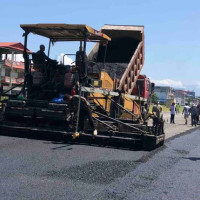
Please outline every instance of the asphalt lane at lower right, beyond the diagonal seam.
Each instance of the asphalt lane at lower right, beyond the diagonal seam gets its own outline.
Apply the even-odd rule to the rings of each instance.
[[[91,199],[200,199],[200,131],[168,142]]]

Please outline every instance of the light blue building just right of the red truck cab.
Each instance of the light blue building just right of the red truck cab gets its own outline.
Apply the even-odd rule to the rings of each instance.
[[[165,104],[167,101],[174,99],[173,88],[169,86],[155,86],[154,92],[162,104]]]

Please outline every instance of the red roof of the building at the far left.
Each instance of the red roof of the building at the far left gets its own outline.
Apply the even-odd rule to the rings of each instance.
[[[0,53],[10,54],[14,52],[15,54],[22,54],[24,51],[24,45],[20,42],[0,42]],[[27,53],[31,53],[27,49]]]

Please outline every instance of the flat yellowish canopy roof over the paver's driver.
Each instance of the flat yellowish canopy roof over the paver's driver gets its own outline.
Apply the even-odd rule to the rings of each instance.
[[[52,41],[83,41],[88,35],[90,41],[109,41],[106,34],[88,25],[75,24],[21,24],[25,31],[41,35]]]

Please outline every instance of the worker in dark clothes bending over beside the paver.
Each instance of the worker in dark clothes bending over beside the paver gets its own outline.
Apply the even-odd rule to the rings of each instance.
[[[89,107],[89,102],[80,95],[74,95],[74,96],[65,95],[65,99],[67,103],[69,104],[70,112],[74,112],[75,114],[78,113],[79,100],[81,100],[80,112],[79,112],[79,129],[81,131],[84,131],[85,119],[88,118],[90,126],[93,130],[93,136],[96,136],[97,130],[95,129],[95,126],[94,126],[94,121],[92,119],[92,112]]]

